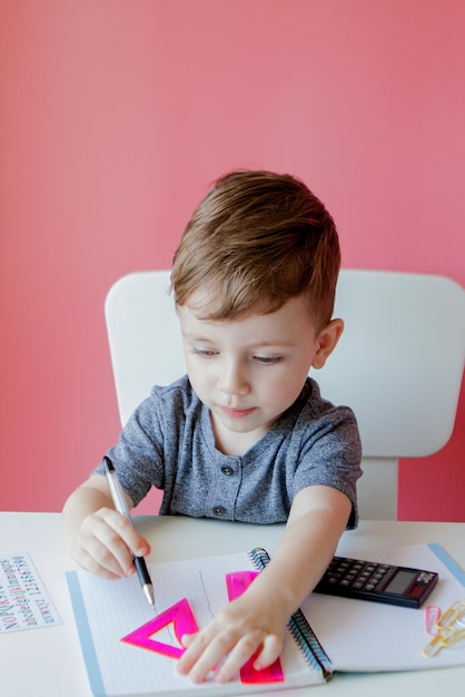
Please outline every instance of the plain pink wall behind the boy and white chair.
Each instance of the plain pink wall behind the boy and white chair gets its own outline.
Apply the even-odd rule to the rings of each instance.
[[[305,178],[345,266],[465,285],[464,26],[462,0],[0,3],[0,509],[60,510],[116,439],[106,292],[169,267],[225,170]],[[400,518],[465,520],[464,443],[465,397]]]

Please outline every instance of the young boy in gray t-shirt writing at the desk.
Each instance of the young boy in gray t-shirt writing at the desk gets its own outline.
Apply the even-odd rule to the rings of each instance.
[[[129,507],[151,485],[161,514],[287,521],[271,562],[196,636],[178,668],[226,683],[256,654],[274,662],[289,616],[357,523],[353,412],[307,377],[344,328],[332,318],[334,222],[299,180],[236,171],[216,183],[175,254],[171,289],[188,375],[154,387],[110,449]],[[115,510],[101,465],[68,499],[70,553],[106,578],[133,572],[148,542]]]

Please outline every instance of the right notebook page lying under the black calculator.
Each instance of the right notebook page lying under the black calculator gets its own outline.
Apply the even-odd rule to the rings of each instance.
[[[303,610],[325,648],[335,670],[417,670],[465,664],[465,641],[443,649],[435,658],[423,656],[431,640],[425,627],[425,607],[444,612],[465,600],[461,580],[425,544],[395,550],[357,552],[357,558],[437,571],[439,581],[421,609],[348,600],[311,593]],[[463,576],[463,575],[462,575]]]

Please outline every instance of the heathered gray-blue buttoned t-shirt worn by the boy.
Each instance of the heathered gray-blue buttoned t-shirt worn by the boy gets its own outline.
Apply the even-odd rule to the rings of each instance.
[[[357,524],[357,423],[350,409],[323,400],[311,379],[243,455],[217,450],[210,412],[187,376],[155,386],[108,455],[136,505],[150,487],[164,491],[160,514],[285,522],[300,489],[325,484],[348,497],[353,508],[347,527]],[[95,472],[102,474],[102,467]]]

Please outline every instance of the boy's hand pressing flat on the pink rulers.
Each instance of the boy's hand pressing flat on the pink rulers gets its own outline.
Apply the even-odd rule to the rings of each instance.
[[[179,673],[202,683],[216,669],[215,680],[228,683],[257,651],[254,667],[270,666],[281,652],[287,621],[278,605],[269,598],[257,602],[247,592],[227,605],[205,629],[182,637],[187,650],[179,660]]]

